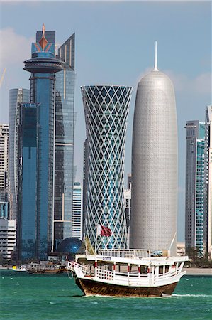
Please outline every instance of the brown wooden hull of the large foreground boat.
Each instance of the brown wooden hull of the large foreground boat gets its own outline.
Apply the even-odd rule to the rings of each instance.
[[[111,297],[167,297],[172,295],[177,286],[177,282],[174,282],[160,287],[131,287],[79,278],[76,284],[86,296]]]

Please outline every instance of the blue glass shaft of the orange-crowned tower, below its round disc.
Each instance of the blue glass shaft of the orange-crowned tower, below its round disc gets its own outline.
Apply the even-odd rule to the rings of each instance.
[[[51,248],[54,151],[54,82],[55,76],[37,74],[34,102],[40,102],[38,132],[38,255],[43,257]]]

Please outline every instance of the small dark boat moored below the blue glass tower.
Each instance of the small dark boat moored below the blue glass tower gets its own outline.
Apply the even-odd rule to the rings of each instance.
[[[60,274],[67,270],[65,264],[50,264],[50,263],[33,263],[26,265],[26,272],[30,274]]]

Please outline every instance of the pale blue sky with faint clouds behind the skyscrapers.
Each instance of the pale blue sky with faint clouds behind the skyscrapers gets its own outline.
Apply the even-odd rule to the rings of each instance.
[[[81,85],[132,85],[125,144],[125,180],[131,171],[135,95],[153,68],[174,83],[179,138],[178,241],[184,241],[185,123],[204,121],[211,105],[211,1],[0,1],[0,123],[9,123],[9,89],[30,88],[23,61],[36,31],[56,31],[60,46],[75,33],[74,163],[82,182],[86,137]]]

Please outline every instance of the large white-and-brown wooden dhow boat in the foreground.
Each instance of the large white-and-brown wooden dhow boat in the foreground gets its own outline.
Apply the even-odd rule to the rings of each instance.
[[[100,250],[76,255],[67,269],[85,296],[169,297],[188,257],[151,257],[147,250]]]

